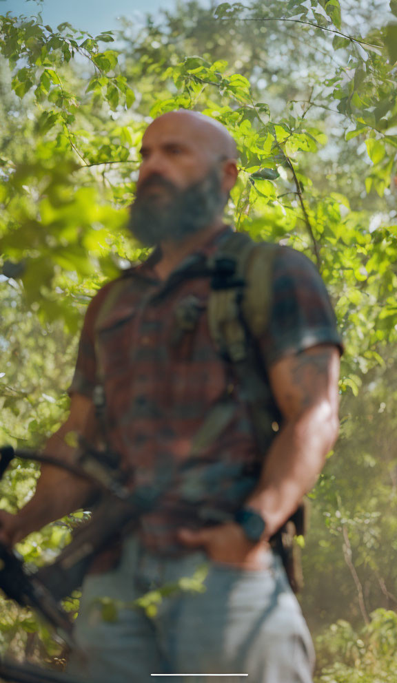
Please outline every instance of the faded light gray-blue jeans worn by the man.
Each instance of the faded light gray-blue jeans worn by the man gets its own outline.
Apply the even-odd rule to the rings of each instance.
[[[203,593],[163,598],[154,618],[122,608],[115,621],[103,620],[98,598],[132,602],[204,563]],[[268,569],[250,571],[213,563],[201,551],[163,558],[129,538],[117,569],[85,579],[75,638],[84,655],[72,652],[68,671],[95,683],[312,683],[312,640],[271,553]],[[211,675],[221,673],[248,676]]]

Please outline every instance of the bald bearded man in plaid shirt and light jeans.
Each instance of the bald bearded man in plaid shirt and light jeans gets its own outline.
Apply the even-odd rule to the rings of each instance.
[[[70,671],[112,683],[156,673],[184,673],[189,682],[241,673],[251,683],[309,683],[312,642],[268,541],[314,485],[337,435],[340,340],[327,293],[303,255],[278,248],[259,346],[281,429],[261,454],[238,378],[210,335],[210,278],[192,277],[231,233],[222,214],[237,178],[236,145],[216,121],[179,111],[147,127],[141,155],[130,229],[156,249],[88,307],[70,417],[48,452],[72,458],[67,435],[87,434],[101,385],[125,481],[150,484],[170,473],[171,481],[124,538],[118,561],[109,549],[85,579],[76,637],[87,657],[72,655]],[[196,313],[183,329],[186,302]],[[227,423],[194,449],[225,395]],[[89,497],[87,483],[43,467],[32,501],[17,516],[1,514],[1,538],[15,543]],[[165,598],[152,620],[125,605],[191,576],[204,561],[203,593]],[[101,596],[121,605],[115,622],[101,618]]]

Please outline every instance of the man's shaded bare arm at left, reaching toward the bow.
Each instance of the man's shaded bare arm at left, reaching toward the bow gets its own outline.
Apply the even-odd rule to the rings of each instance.
[[[68,419],[50,437],[44,453],[57,456],[60,461],[72,462],[75,449],[67,435],[86,434],[92,416],[92,401],[74,394]],[[27,505],[16,515],[0,511],[0,541],[13,545],[45,524],[74,512],[88,501],[93,490],[94,485],[90,482],[61,467],[42,465],[36,492]]]

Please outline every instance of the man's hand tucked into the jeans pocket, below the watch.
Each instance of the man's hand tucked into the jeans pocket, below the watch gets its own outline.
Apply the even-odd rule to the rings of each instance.
[[[178,538],[186,547],[203,548],[214,562],[254,571],[268,566],[267,543],[247,540],[243,529],[234,522],[197,531],[179,529]]]

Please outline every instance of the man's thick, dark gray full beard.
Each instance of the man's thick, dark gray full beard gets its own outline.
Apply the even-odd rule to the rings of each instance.
[[[170,198],[165,204],[143,194],[145,187],[153,182],[169,191]],[[157,246],[163,240],[183,242],[189,235],[208,227],[224,206],[225,196],[217,169],[184,190],[159,175],[150,176],[136,193],[128,229],[145,246]]]

